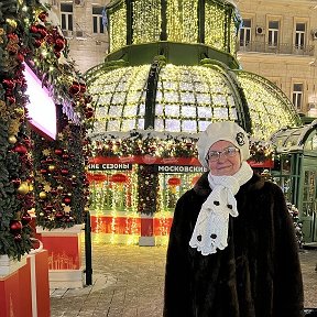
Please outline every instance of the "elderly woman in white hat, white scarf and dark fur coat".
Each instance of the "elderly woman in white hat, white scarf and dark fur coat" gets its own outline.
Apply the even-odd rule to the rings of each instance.
[[[176,204],[164,316],[304,316],[293,222],[281,188],[247,163],[245,131],[211,123],[197,146],[209,172]]]

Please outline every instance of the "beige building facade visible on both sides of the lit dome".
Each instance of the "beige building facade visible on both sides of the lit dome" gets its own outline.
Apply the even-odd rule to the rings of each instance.
[[[50,0],[79,69],[108,54],[109,0]],[[317,117],[317,1],[237,0],[243,19],[237,57],[244,70],[281,88],[299,113]]]

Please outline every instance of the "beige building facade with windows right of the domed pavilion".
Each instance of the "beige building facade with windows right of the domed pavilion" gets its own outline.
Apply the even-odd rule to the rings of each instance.
[[[317,117],[317,1],[237,2],[242,67],[276,84],[299,113]]]

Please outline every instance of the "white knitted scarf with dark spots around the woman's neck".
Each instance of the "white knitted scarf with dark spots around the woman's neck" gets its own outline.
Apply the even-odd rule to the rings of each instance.
[[[229,215],[237,217],[237,200],[234,195],[240,186],[253,175],[247,162],[232,176],[214,176],[208,174],[209,186],[212,189],[201,205],[189,245],[197,248],[203,255],[216,253],[228,245]]]

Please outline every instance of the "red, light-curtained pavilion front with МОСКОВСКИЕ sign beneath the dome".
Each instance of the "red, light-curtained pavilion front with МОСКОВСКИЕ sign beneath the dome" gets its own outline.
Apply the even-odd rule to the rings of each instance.
[[[203,172],[196,158],[90,160],[91,229],[103,233],[95,238],[116,244],[166,244],[176,201]]]

